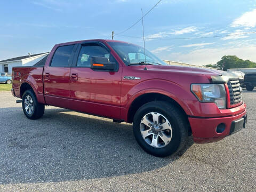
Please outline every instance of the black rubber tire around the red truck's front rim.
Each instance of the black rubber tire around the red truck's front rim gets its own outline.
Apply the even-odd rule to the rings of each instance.
[[[172,127],[172,138],[170,142],[162,148],[150,146],[143,139],[140,132],[141,119],[151,112],[165,116]],[[151,101],[141,106],[135,113],[133,119],[133,133],[139,145],[147,153],[157,157],[165,157],[177,153],[185,146],[188,139],[188,126],[185,116],[181,113],[179,108],[168,102]]]

